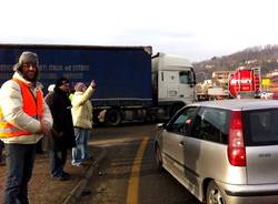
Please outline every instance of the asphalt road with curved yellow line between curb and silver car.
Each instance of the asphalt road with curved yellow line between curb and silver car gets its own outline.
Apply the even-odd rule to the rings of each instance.
[[[90,144],[106,146],[107,157],[80,203],[200,204],[169,173],[156,169],[155,130],[155,124],[96,129]]]

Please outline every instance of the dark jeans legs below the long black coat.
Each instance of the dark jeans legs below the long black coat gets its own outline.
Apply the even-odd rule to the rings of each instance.
[[[61,177],[67,162],[67,150],[49,151],[49,157],[51,177]]]

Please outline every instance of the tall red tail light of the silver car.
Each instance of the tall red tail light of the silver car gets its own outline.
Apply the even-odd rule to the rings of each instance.
[[[232,111],[229,129],[228,159],[231,165],[246,166],[241,111]]]

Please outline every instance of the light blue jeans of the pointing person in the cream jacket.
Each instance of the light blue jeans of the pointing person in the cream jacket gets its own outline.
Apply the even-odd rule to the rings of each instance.
[[[71,164],[79,165],[89,157],[88,140],[90,136],[90,130],[75,128],[75,136],[77,146],[72,149]]]

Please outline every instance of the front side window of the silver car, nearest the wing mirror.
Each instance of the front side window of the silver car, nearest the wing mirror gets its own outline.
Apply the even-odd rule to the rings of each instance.
[[[197,109],[197,106],[189,106],[181,111],[180,114],[170,123],[169,130],[178,134],[188,134]]]

